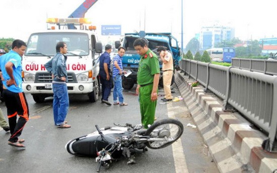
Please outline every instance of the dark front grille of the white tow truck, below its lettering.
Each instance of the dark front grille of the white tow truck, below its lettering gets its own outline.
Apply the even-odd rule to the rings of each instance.
[[[74,73],[67,73],[68,83],[76,83],[76,76]],[[36,73],[35,83],[52,83],[52,75],[49,72]]]

